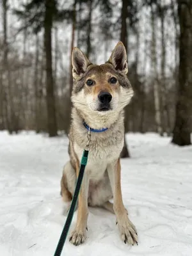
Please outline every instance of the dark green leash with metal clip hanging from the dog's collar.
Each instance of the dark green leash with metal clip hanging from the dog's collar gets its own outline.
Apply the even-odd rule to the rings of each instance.
[[[88,143],[86,145],[86,149],[84,149],[84,151],[83,151],[83,156],[81,158],[81,166],[80,166],[79,175],[78,175],[78,178],[77,178],[76,189],[75,189],[75,192],[74,192],[74,196],[72,198],[70,209],[68,211],[67,220],[65,221],[63,231],[61,232],[60,240],[58,242],[58,246],[56,248],[54,256],[60,256],[61,255],[61,252],[63,250],[63,246],[64,246],[66,238],[67,238],[68,230],[70,228],[70,224],[71,224],[72,218],[74,216],[74,211],[76,209],[77,198],[79,196],[79,191],[81,189],[81,183],[82,183],[82,180],[83,180],[84,169],[85,169],[86,163],[88,161],[89,144],[90,144],[90,136],[91,136],[90,135],[90,129],[88,130],[88,135],[87,136],[88,136]]]

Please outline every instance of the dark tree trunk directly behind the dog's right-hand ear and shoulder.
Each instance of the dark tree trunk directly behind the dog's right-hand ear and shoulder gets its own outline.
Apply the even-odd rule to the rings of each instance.
[[[121,33],[120,33],[120,40],[125,45],[126,51],[127,51],[127,6],[128,6],[128,1],[122,0],[122,12],[121,12],[122,27],[121,27]],[[127,109],[125,109],[125,122],[127,122],[127,111],[126,110]],[[129,151],[127,148],[125,136],[124,136],[124,147],[122,149],[120,157],[122,157],[122,158],[129,157]]]

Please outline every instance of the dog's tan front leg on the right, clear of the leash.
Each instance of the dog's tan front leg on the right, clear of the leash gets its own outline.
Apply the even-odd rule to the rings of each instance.
[[[108,173],[113,191],[113,208],[116,214],[116,222],[120,230],[120,236],[124,243],[129,243],[131,245],[134,243],[138,244],[138,234],[136,232],[136,227],[134,227],[132,222],[129,220],[127,210],[125,209],[122,200],[120,171],[120,159],[118,159],[115,164],[109,164]]]

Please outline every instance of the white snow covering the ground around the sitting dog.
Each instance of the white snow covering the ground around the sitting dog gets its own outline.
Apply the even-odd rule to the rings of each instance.
[[[138,246],[120,240],[115,216],[90,208],[88,238],[65,243],[62,255],[192,255],[192,147],[157,134],[127,134],[131,159],[122,159],[122,193]],[[54,255],[66,220],[60,197],[65,136],[0,132],[0,252]],[[76,214],[72,221],[75,225]]]

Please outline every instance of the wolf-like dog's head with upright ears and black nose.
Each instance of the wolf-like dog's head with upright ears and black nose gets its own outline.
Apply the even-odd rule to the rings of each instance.
[[[72,52],[74,106],[81,111],[87,111],[89,108],[91,112],[97,111],[100,115],[121,111],[133,95],[127,72],[127,54],[122,42],[116,45],[109,60],[102,65],[93,65],[81,50],[74,47]]]

